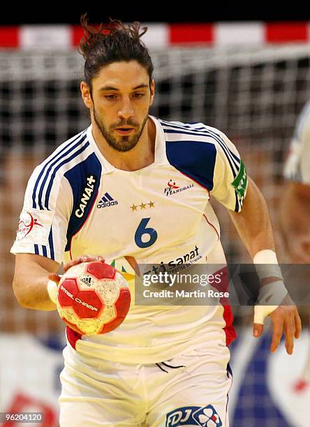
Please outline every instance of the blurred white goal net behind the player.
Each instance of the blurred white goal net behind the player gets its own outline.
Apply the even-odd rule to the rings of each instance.
[[[152,114],[202,121],[225,132],[267,199],[274,225],[283,159],[297,114],[310,96],[308,45],[260,48],[170,48],[154,51]],[[27,179],[57,145],[89,125],[80,98],[83,61],[77,52],[0,53],[0,241],[2,331],[55,331],[54,313],[23,310],[11,289],[15,238]],[[229,262],[249,260],[216,205]]]

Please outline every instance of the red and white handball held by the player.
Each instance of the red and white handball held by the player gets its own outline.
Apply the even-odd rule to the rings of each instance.
[[[61,277],[56,303],[61,319],[79,334],[106,334],[124,321],[131,294],[114,267],[82,262]]]

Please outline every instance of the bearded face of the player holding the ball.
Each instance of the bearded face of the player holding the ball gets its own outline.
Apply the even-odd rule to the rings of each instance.
[[[121,61],[103,67],[91,86],[91,101],[85,104],[103,137],[117,151],[131,150],[147,122],[154,81],[150,88],[147,70],[137,61]]]

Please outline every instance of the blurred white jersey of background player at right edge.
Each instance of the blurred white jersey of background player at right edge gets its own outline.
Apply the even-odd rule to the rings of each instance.
[[[286,179],[310,184],[310,102],[298,117],[284,166]]]

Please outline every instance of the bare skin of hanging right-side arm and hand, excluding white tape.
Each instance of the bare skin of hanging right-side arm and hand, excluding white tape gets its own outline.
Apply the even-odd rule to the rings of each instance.
[[[240,238],[249,250],[252,258],[261,250],[269,249],[274,251],[274,237],[267,204],[253,180],[249,179],[249,186],[243,202],[242,211],[229,211],[229,213]],[[261,280],[261,285],[267,285],[278,280],[281,280],[281,277],[270,276]],[[295,338],[299,338],[300,336],[301,322],[293,301],[289,297],[287,300],[290,305],[278,306],[270,313],[273,322],[273,336],[270,350],[272,352],[276,351],[284,332],[286,336],[286,351],[288,354],[291,354],[293,352],[293,338],[294,336]],[[286,301],[283,301],[283,303],[286,303]],[[263,324],[254,323],[254,336],[260,336],[262,332]]]

